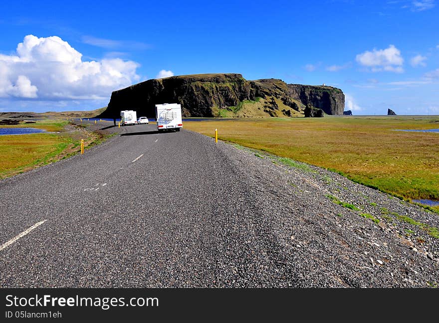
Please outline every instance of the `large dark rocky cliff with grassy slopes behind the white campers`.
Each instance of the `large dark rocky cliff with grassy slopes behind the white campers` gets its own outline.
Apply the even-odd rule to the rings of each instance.
[[[121,110],[155,117],[155,104],[180,103],[184,117],[303,116],[305,105],[342,114],[344,94],[330,86],[286,84],[279,79],[246,80],[241,74],[195,74],[150,79],[111,94],[98,117]]]

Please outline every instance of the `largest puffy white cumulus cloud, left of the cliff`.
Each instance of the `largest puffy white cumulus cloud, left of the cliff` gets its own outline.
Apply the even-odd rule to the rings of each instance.
[[[137,67],[120,58],[82,61],[58,36],[27,35],[16,54],[0,54],[0,97],[106,99],[140,78]]]

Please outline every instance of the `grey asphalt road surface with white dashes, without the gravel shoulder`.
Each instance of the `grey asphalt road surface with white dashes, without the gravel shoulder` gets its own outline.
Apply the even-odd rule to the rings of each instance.
[[[83,156],[0,182],[1,244],[46,220],[0,251],[1,287],[279,285],[272,238],[250,243],[264,234],[247,221],[258,203],[218,144],[113,130]]]

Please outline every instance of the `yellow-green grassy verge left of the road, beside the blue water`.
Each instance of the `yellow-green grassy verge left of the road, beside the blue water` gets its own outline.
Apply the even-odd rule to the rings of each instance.
[[[84,139],[85,148],[89,148],[109,137],[66,120],[41,120],[2,127],[32,127],[56,133],[0,136],[0,179],[75,155],[80,152],[81,139]]]

